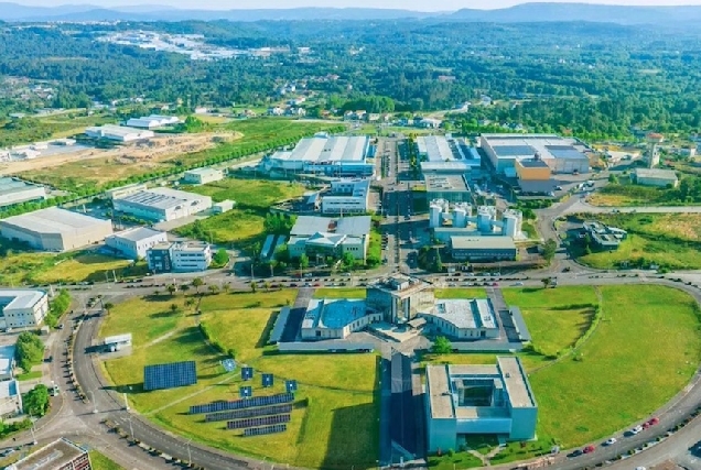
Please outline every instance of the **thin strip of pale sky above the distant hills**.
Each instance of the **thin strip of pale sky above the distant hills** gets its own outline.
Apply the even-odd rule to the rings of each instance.
[[[420,11],[447,11],[461,8],[493,9],[510,7],[525,1],[518,0],[441,0],[427,2],[425,0],[8,0],[22,4],[56,7],[66,3],[88,3],[104,7],[163,4],[175,8],[197,8],[207,10],[250,9],[250,8],[296,8],[296,7],[358,7],[358,8],[397,8]],[[542,0],[541,0],[542,1]],[[597,0],[587,3],[608,4],[647,4],[675,6],[701,4],[701,0]]]

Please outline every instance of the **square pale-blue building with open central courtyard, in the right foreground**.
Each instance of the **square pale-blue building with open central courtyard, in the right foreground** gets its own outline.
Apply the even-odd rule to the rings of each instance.
[[[425,407],[430,452],[459,449],[470,435],[536,436],[538,405],[516,357],[494,365],[427,365]]]

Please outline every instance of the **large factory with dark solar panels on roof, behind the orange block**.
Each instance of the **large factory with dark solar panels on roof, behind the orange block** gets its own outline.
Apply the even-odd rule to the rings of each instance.
[[[516,162],[538,155],[552,173],[589,173],[590,150],[576,139],[550,134],[482,134],[479,144],[497,174],[516,177]]]

